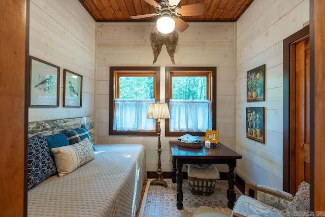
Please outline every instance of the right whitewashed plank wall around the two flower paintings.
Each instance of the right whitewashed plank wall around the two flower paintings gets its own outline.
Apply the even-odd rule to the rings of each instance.
[[[283,42],[309,20],[309,1],[255,0],[237,22],[236,172],[282,189]],[[265,101],[246,101],[247,71],[266,64]],[[246,107],[265,107],[265,143],[246,138]],[[258,171],[258,172],[257,172]]]

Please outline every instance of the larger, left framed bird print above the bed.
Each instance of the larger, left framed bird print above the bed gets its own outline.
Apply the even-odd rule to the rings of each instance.
[[[60,67],[29,56],[29,107],[58,107]]]

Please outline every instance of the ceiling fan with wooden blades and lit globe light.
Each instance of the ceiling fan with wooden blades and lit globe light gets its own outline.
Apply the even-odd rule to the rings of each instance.
[[[157,2],[154,0],[144,1],[152,5],[156,13],[136,15],[131,16],[131,18],[141,19],[159,16],[157,24],[152,32],[156,32],[156,30],[158,30],[160,33],[168,34],[173,32],[174,28],[176,27],[179,32],[182,33],[189,25],[180,17],[200,16],[204,12],[204,3],[177,6],[181,0],[157,0]]]

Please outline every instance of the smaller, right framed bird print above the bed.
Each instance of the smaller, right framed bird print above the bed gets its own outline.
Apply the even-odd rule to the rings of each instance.
[[[82,75],[63,70],[63,107],[82,106]]]

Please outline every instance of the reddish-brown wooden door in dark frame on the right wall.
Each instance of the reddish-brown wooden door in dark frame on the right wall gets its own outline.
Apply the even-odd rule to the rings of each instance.
[[[309,36],[291,44],[290,193],[302,181],[310,183]]]

